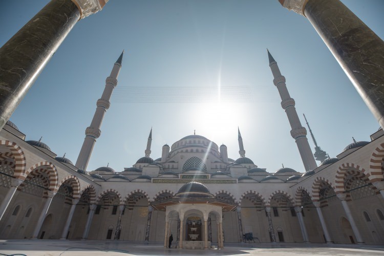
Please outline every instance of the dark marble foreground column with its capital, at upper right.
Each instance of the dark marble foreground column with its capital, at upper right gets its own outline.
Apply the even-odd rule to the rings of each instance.
[[[384,41],[339,0],[283,2],[308,18],[384,127]]]

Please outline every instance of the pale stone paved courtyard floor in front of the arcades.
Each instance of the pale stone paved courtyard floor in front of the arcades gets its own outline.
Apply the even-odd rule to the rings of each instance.
[[[384,246],[326,244],[225,244],[207,250],[167,249],[161,243],[122,241],[0,240],[0,255],[383,255]]]

